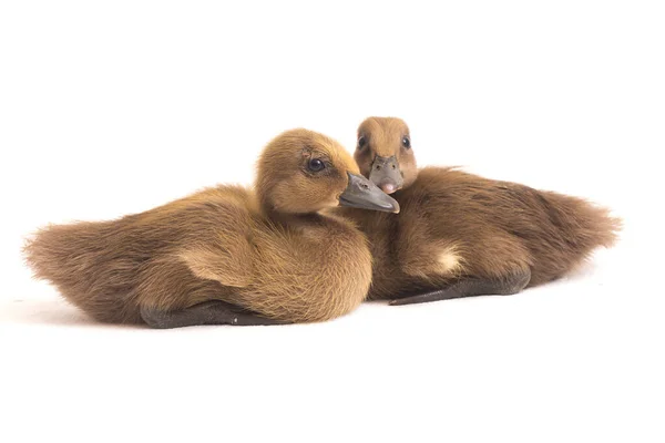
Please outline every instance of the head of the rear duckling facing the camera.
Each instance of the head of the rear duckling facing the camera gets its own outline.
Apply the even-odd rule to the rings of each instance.
[[[369,117],[360,123],[354,157],[360,173],[387,194],[418,176],[409,126],[401,119]]]

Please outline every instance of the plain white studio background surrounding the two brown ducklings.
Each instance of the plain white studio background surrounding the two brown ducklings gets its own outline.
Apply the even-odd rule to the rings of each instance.
[[[0,441],[664,441],[662,2],[222,3],[1,3]],[[249,184],[277,133],[351,150],[369,115],[623,239],[514,297],[280,328],[100,326],[22,264],[38,226]]]

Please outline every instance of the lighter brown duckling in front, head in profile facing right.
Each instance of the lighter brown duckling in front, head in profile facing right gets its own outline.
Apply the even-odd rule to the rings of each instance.
[[[371,279],[366,237],[324,208],[398,212],[336,141],[287,131],[264,148],[254,192],[217,186],[144,213],[42,228],[38,278],[102,322],[154,328],[331,319]]]

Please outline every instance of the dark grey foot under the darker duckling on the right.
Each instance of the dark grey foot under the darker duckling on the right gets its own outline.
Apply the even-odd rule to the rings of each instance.
[[[429,301],[477,296],[510,296],[524,289],[529,285],[529,280],[531,280],[529,269],[512,274],[503,279],[467,278],[443,289],[398,298],[390,301],[390,305],[427,303]]]

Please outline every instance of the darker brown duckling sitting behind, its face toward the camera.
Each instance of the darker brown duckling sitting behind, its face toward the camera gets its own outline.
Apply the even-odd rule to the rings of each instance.
[[[370,299],[406,305],[515,293],[566,275],[596,247],[611,247],[621,229],[608,209],[582,198],[453,167],[418,169],[400,119],[364,121],[354,156],[401,206],[393,217],[335,210],[368,235]]]

